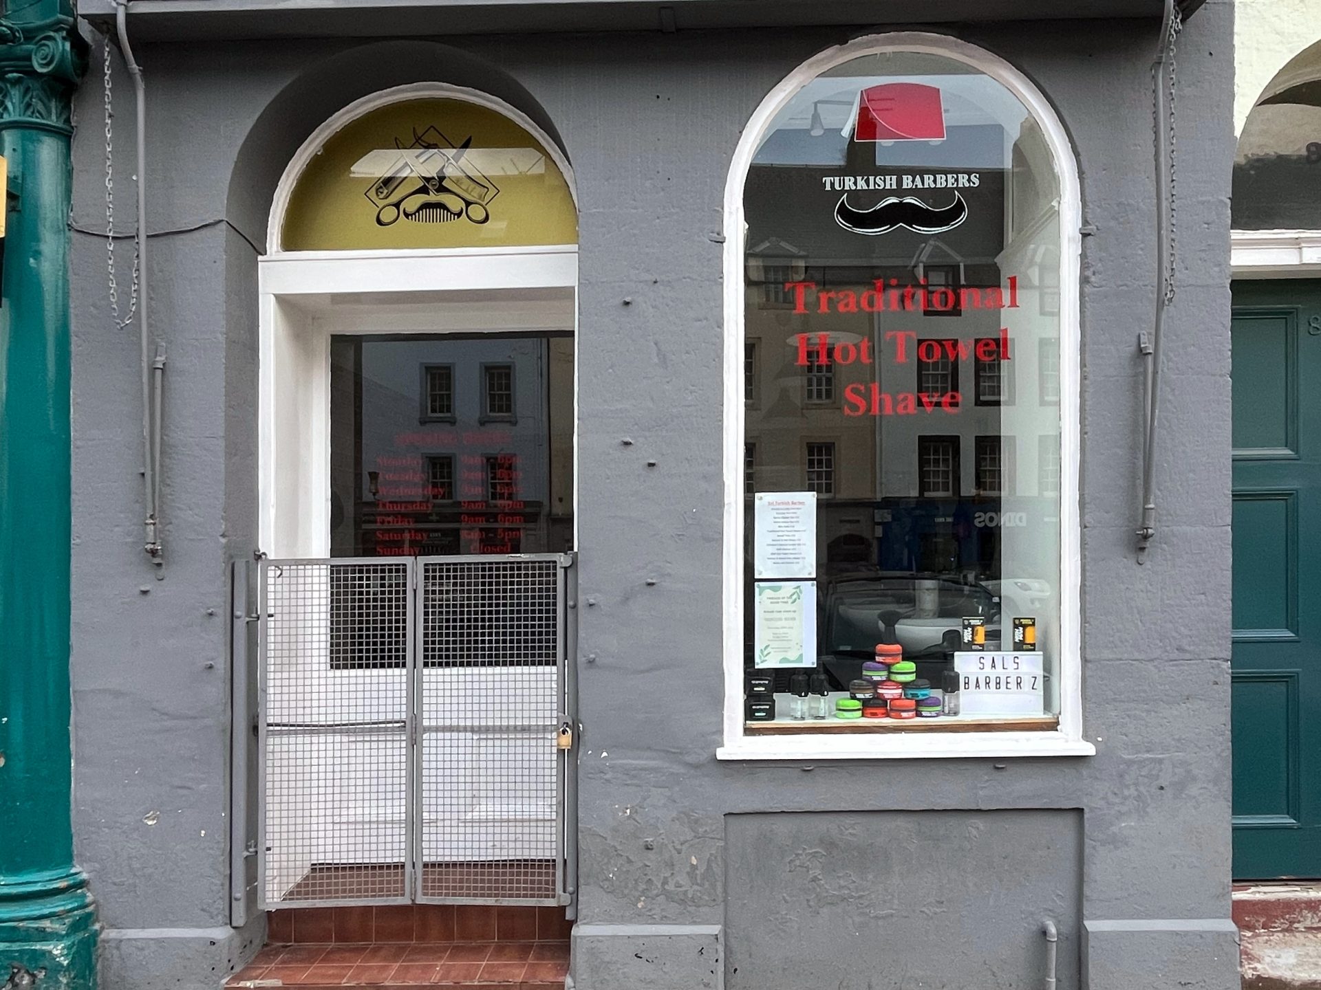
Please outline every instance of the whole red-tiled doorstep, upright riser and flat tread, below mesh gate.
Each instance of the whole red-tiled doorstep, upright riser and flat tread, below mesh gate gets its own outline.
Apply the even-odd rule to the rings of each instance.
[[[404,904],[275,911],[269,944],[227,987],[564,990],[563,908]]]

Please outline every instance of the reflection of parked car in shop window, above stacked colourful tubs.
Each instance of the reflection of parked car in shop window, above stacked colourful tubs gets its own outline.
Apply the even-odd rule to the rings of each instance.
[[[818,655],[843,684],[884,640],[904,647],[918,675],[934,678],[956,649],[964,615],[987,620],[987,645],[1000,638],[1000,601],[980,583],[941,574],[844,574],[819,593]]]

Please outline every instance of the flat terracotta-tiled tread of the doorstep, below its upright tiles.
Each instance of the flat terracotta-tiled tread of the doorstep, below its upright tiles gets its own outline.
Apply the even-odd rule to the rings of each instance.
[[[567,941],[267,945],[227,987],[564,990]]]

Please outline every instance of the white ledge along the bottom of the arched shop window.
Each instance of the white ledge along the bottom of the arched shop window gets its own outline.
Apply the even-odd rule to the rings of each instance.
[[[1095,756],[1086,739],[1063,733],[914,733],[913,735],[744,737],[716,750],[721,760],[974,759]]]

